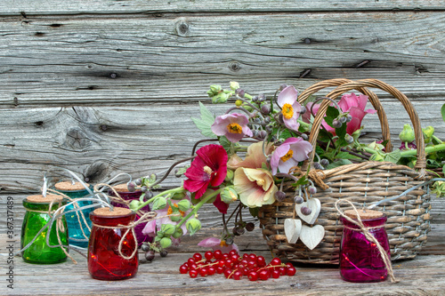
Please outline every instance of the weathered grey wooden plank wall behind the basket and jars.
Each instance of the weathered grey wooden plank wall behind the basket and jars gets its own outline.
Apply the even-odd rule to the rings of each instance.
[[[54,165],[92,182],[165,170],[200,138],[190,116],[208,85],[231,80],[271,94],[381,79],[444,138],[444,12],[433,0],[1,1],[0,203],[20,204]],[[376,93],[396,138],[408,116]]]

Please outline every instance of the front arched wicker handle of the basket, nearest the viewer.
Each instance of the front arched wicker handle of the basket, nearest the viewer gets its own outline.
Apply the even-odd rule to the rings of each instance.
[[[384,92],[388,92],[388,93],[392,94],[392,96],[394,98],[401,101],[401,104],[407,111],[409,118],[411,120],[411,123],[413,124],[414,133],[416,136],[417,164],[416,164],[415,168],[425,170],[425,168],[426,168],[425,142],[424,142],[424,137],[422,134],[420,120],[418,118],[416,109],[412,106],[409,99],[402,92],[400,92],[398,89],[396,89],[392,85],[385,84],[384,82],[377,80],[377,79],[363,79],[363,80],[351,81],[351,82],[341,84],[334,91],[329,92],[327,97],[330,99],[336,100],[336,98],[339,95],[343,94],[344,92],[349,92],[354,89],[359,90],[359,89],[363,89],[364,87],[373,87],[373,88],[381,89]],[[376,101],[377,100],[378,99],[376,98]],[[376,101],[375,101],[375,103],[376,103]],[[328,109],[329,104],[330,104],[329,100],[323,100],[320,105],[319,111],[317,112],[317,115],[315,116],[314,122],[312,124],[311,135],[309,136],[309,142],[312,144],[312,147],[315,147],[317,137],[320,132],[320,124],[323,120],[323,117],[325,116],[325,113]],[[373,104],[373,106],[374,106],[374,104]],[[376,106],[378,107],[379,105],[376,105]],[[381,105],[380,105],[380,107],[381,107]],[[383,110],[383,108],[382,108],[382,110]],[[378,110],[377,110],[377,112],[378,112]],[[379,117],[379,118],[380,118],[380,122],[382,123],[382,118],[381,117]],[[386,121],[386,124],[387,124],[387,121]],[[383,126],[382,126],[382,131],[384,131]],[[388,132],[389,132],[389,129],[388,129]],[[314,156],[315,156],[315,149],[312,150],[311,156],[309,157],[311,162],[313,161]]]

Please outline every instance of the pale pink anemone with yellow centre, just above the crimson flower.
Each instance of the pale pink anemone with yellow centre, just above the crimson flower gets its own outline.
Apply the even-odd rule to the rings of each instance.
[[[217,136],[225,136],[232,143],[243,139],[244,136],[252,137],[253,133],[248,128],[247,116],[240,113],[224,114],[217,116],[212,124],[212,132]]]

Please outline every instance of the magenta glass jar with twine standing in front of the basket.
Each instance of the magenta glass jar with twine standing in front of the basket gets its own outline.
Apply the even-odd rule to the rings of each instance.
[[[361,211],[361,210],[360,210]],[[369,233],[376,237],[384,252],[391,259],[388,236],[384,230],[386,216],[382,212],[367,210],[368,215],[360,212],[360,219]],[[345,211],[352,219],[357,216],[355,212]],[[360,227],[344,217],[342,241],[340,244],[340,275],[345,281],[354,283],[370,283],[384,281],[388,270],[384,259],[373,242],[369,242]]]

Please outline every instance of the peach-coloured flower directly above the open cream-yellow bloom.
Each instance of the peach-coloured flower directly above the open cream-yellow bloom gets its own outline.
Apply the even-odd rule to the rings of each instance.
[[[273,150],[273,145],[271,143],[264,144],[264,153],[266,155],[270,155],[272,150]],[[244,160],[242,160],[239,156],[234,154],[229,159],[227,166],[231,170],[236,170],[239,167],[259,169],[263,167],[263,164],[266,164],[266,166],[269,167],[269,164],[267,163],[267,159],[266,156],[264,156],[264,153],[263,153],[263,142],[256,142],[254,144],[251,144],[247,148],[247,156]]]

